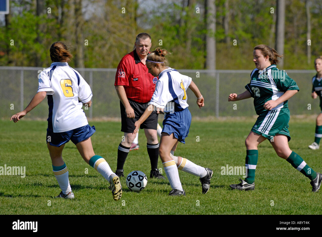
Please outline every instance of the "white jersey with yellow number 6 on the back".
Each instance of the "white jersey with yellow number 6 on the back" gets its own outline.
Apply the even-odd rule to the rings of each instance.
[[[55,62],[43,70],[38,79],[37,92],[47,92],[49,129],[60,133],[88,124],[82,103],[91,100],[92,92],[76,70],[68,63]]]

